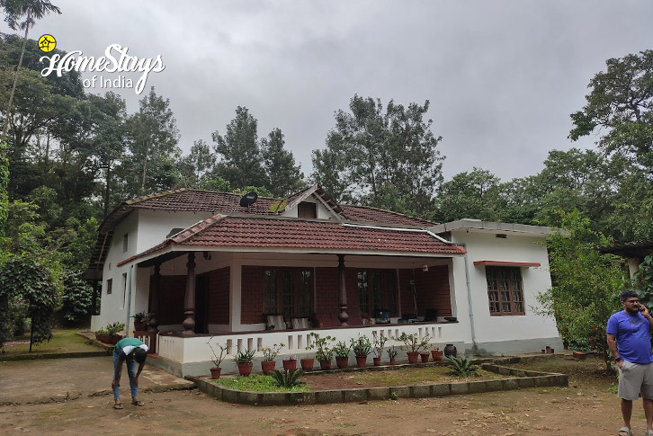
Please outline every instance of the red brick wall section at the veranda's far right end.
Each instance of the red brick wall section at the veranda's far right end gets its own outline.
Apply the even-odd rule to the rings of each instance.
[[[399,271],[401,287],[401,313],[412,314],[415,311],[410,280],[414,270]],[[452,316],[452,300],[449,289],[449,269],[446,265],[430,266],[428,271],[415,270],[417,299],[417,316],[424,316],[425,309],[434,307],[438,316]]]

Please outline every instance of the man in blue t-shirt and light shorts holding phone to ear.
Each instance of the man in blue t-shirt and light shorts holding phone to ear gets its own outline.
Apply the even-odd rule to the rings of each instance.
[[[634,290],[623,290],[619,299],[623,310],[610,316],[606,330],[608,348],[619,368],[617,395],[622,398],[623,415],[619,436],[632,435],[632,401],[640,396],[646,416],[646,436],[653,436],[653,353],[650,349],[653,317],[649,309],[640,304],[640,297]]]

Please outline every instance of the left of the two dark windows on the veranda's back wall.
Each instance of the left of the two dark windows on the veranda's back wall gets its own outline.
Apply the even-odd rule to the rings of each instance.
[[[264,271],[264,314],[307,317],[313,313],[311,270],[278,268]]]

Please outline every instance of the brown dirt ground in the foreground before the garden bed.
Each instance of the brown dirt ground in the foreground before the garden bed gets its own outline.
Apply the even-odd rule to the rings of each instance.
[[[569,387],[564,388],[344,405],[230,405],[194,390],[146,393],[140,396],[144,407],[126,404],[116,411],[111,396],[92,396],[1,406],[0,429],[3,434],[109,434],[126,429],[171,435],[616,434],[621,414],[619,399],[610,391],[613,380],[595,377],[601,370],[598,362],[594,368],[590,363],[589,369],[571,370]],[[640,403],[634,407],[632,423],[633,433],[644,433]]]

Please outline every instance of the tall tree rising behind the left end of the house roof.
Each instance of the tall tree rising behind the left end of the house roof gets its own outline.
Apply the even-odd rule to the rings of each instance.
[[[128,181],[126,191],[142,195],[146,191],[172,187],[176,168],[170,168],[171,159],[178,159],[181,152],[177,147],[179,130],[170,100],[157,95],[152,86],[148,95],[140,100],[139,111],[130,117],[127,126],[130,159],[122,172]]]

